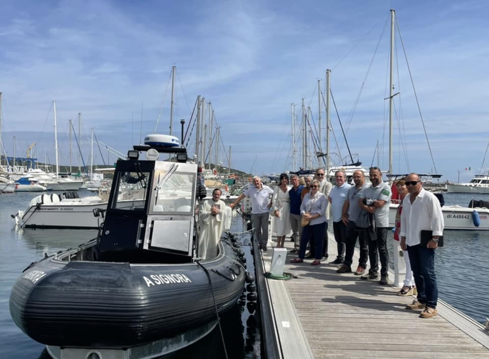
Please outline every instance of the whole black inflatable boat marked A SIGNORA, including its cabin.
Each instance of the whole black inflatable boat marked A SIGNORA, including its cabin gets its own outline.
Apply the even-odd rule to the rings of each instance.
[[[165,162],[152,160],[154,150],[139,160],[150,147],[134,147],[117,163],[106,212],[96,213],[98,237],[32,263],[13,287],[14,322],[52,355],[147,354],[156,344],[166,347],[154,354],[161,355],[205,335],[243,291],[243,252],[231,235],[216,258],[199,258],[195,209],[205,188],[197,165],[185,163],[180,148],[172,152],[181,162]],[[128,188],[140,199],[129,206],[118,199]]]

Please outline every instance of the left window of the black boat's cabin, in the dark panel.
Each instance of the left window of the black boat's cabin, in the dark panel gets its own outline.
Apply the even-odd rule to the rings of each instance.
[[[149,172],[121,172],[117,197],[112,208],[118,210],[144,210]]]

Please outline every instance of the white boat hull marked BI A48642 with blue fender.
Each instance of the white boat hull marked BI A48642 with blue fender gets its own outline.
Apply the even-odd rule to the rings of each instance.
[[[398,204],[391,203],[389,206],[389,226],[394,227]],[[479,213],[480,225],[476,227],[472,219],[472,212]],[[489,209],[469,208],[461,206],[443,206],[443,217],[445,229],[464,229],[464,230],[489,230]]]

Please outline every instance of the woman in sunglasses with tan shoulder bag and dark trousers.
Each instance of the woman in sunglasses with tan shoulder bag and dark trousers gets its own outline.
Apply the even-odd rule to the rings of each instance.
[[[319,192],[319,182],[313,180],[311,182],[311,190],[304,196],[301,204],[302,215],[302,236],[301,245],[299,248],[299,257],[291,260],[291,263],[303,263],[306,255],[307,243],[311,239],[314,240],[316,259],[311,263],[313,266],[321,264],[322,253],[322,237],[324,235],[324,227],[326,225],[326,209],[328,208],[328,199]]]

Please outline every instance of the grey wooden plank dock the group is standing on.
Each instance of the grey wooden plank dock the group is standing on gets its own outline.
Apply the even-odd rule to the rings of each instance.
[[[255,256],[255,266],[264,272],[276,244],[275,238],[268,241],[268,251]],[[288,237],[285,245],[288,250],[293,247]],[[263,339],[266,346],[277,346],[277,359],[489,358],[489,333],[480,323],[442,300],[437,316],[419,318],[421,310],[404,308],[415,297],[397,296],[397,289],[381,286],[378,280],[337,274],[338,266],[327,264],[336,258],[332,234],[328,249],[329,259],[320,266],[311,266],[312,260],[292,264],[297,255],[287,253],[284,271],[297,278],[264,281],[260,301],[269,303],[270,314],[262,319],[268,326]],[[391,282],[393,278],[390,271]],[[266,337],[270,335],[275,337]]]

